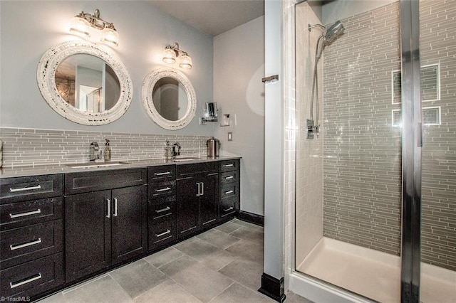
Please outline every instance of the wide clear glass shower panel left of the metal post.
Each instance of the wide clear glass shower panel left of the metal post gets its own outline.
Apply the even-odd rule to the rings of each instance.
[[[304,1],[295,12],[296,270],[400,302],[400,2]],[[311,115],[318,38],[336,21],[345,31],[321,46]]]

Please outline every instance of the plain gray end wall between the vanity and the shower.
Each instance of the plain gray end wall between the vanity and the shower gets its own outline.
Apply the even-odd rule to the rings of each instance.
[[[264,16],[214,37],[214,101],[229,127],[214,136],[221,154],[242,155],[241,210],[264,214]],[[228,132],[233,140],[228,141]]]

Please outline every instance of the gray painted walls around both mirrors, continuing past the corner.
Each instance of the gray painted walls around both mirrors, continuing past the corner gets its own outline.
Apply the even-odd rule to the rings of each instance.
[[[68,33],[71,19],[81,11],[93,14],[95,9],[100,9],[101,18],[115,24],[120,45],[113,51],[133,81],[133,100],[128,111],[117,121],[99,127],[64,119],[47,105],[36,85],[36,67],[43,53],[63,41],[79,39]],[[264,103],[261,99],[264,26],[261,18],[213,41],[211,36],[158,11],[146,1],[58,1],[58,5],[56,1],[0,1],[0,14],[0,127],[90,131],[103,134],[102,138],[110,137],[112,132],[163,134],[170,138],[214,135],[222,141],[222,153],[243,157],[242,210],[264,214]],[[236,42],[239,38],[254,50],[249,63],[244,61],[244,52],[239,53],[244,47]],[[197,95],[197,114],[189,126],[169,131],[147,117],[142,109],[140,89],[148,73],[165,66],[161,60],[162,50],[175,41],[193,60],[191,70],[172,66],[192,81]],[[215,60],[214,45],[217,47]],[[234,53],[237,55],[232,58]],[[237,114],[237,125],[234,125],[234,117],[231,121],[234,140],[230,144],[227,144],[227,128],[219,127],[219,123],[199,124],[204,103],[214,101],[213,87],[216,87],[221,113]],[[159,144],[161,149],[162,142]],[[203,151],[204,148],[204,145],[199,147]],[[182,151],[183,154],[192,152],[190,149]]]

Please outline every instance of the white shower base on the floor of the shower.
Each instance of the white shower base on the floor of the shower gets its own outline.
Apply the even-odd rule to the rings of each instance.
[[[379,302],[400,302],[398,256],[322,238],[296,270]],[[456,302],[456,272],[425,263],[421,272],[421,302]]]

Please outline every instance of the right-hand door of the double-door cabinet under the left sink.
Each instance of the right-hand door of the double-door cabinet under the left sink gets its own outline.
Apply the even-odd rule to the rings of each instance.
[[[147,251],[147,185],[113,189],[113,264]]]

